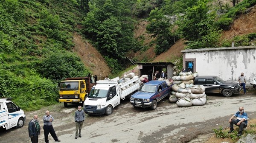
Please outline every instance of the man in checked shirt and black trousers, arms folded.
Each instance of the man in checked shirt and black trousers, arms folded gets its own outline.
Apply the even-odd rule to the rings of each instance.
[[[61,140],[58,140],[58,137],[56,136],[56,133],[52,127],[53,120],[54,118],[52,117],[52,115],[50,115],[50,112],[48,110],[45,111],[43,121],[44,121],[44,140],[46,143],[49,143],[49,140],[48,140],[49,133],[52,135],[55,141],[61,141]]]

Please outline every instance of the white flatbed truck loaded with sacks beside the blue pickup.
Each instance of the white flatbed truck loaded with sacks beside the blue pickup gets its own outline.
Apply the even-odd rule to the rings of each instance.
[[[84,112],[93,115],[111,115],[113,108],[120,104],[121,99],[130,98],[141,84],[138,76],[120,84],[118,81],[119,77],[96,81],[97,84],[93,86],[84,101]]]

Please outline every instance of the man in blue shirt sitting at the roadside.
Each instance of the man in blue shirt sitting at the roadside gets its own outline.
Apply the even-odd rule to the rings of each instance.
[[[239,111],[236,112],[236,114],[234,114],[228,121],[230,123],[230,131],[228,133],[234,131],[233,125],[235,124],[236,126],[239,126],[237,136],[241,136],[243,129],[247,127],[247,118],[248,115],[246,112],[244,112],[244,107],[239,107]]]

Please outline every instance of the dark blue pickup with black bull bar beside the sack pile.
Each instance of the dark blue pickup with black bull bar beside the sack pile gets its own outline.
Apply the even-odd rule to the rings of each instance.
[[[173,84],[172,84],[173,85]],[[131,104],[134,107],[157,108],[157,102],[170,95],[171,86],[166,81],[149,81],[143,84],[139,91],[131,95]]]

